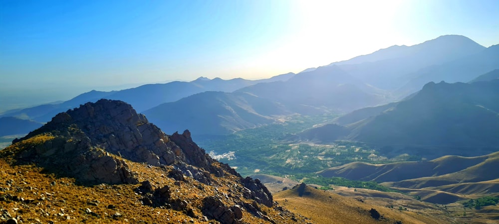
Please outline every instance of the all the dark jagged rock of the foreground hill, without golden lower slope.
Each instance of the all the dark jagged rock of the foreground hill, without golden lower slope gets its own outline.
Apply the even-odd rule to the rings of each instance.
[[[167,135],[122,101],[99,100],[57,114],[42,127],[13,143],[44,136],[45,141],[12,153],[18,163],[35,163],[85,183],[137,184],[126,160],[173,166],[170,177],[193,178],[203,184],[212,175],[235,175],[244,197],[268,207],[272,196],[258,180],[243,179],[227,164],[213,160],[191,138],[189,130]]]

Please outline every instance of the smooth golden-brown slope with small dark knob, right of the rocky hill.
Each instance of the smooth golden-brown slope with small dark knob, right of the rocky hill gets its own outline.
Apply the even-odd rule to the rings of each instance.
[[[301,195],[301,196],[300,196]],[[444,224],[452,223],[443,216],[427,214],[423,210],[404,210],[380,206],[378,203],[344,197],[311,187],[295,187],[274,195],[280,206],[310,218],[320,224]],[[382,216],[371,216],[375,209]]]

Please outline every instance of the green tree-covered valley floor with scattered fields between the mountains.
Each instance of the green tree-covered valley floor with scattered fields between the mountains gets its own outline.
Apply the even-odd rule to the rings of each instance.
[[[194,140],[219,161],[237,167],[243,176],[265,173],[276,176],[309,174],[329,167],[360,161],[389,163],[374,147],[352,141],[331,144],[297,143],[296,135],[335,114],[290,116],[284,122],[245,129],[226,136],[200,136]],[[233,152],[233,153],[232,153]],[[231,157],[221,156],[223,154]]]

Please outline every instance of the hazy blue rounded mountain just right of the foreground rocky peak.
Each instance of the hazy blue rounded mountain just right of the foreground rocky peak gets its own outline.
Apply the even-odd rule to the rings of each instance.
[[[204,92],[165,103],[144,114],[166,131],[190,129],[197,135],[228,134],[290,114],[282,105],[247,93]]]

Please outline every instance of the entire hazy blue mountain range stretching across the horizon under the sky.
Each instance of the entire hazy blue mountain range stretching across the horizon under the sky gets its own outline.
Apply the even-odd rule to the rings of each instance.
[[[179,106],[210,111],[212,106],[207,102],[220,103],[220,101],[213,100],[213,94],[198,95],[197,101],[193,101],[193,98],[180,101],[194,94],[207,91],[246,93],[255,96],[258,100],[267,101],[267,104],[279,105],[270,113],[256,112],[258,115],[253,118],[243,118],[247,115],[238,114],[245,110],[234,110],[228,117],[224,115],[224,111],[230,109],[221,109],[219,110],[221,114],[216,116],[218,118],[210,121],[213,124],[211,126],[216,128],[212,131],[207,130],[209,128],[205,125],[207,121],[191,122],[187,116],[182,117],[184,120],[176,120],[178,125],[174,124],[178,130],[206,129],[197,133],[225,134],[273,122],[276,116],[289,113],[302,115],[348,113],[365,107],[385,105],[410,96],[429,82],[438,83],[442,80],[448,83],[469,82],[481,74],[499,69],[498,46],[486,48],[464,36],[445,35],[413,46],[396,45],[347,61],[306,69],[296,75],[288,73],[255,81],[219,78],[210,80],[200,77],[192,82],[149,84],[111,92],[91,91],[63,103],[8,111],[0,116],[47,122],[58,112],[104,98],[130,103],[139,112],[149,110],[149,113],[152,112],[150,115],[154,116],[153,119],[162,128],[172,130],[161,123],[161,119],[168,120],[169,118],[162,118],[160,114],[175,114],[178,112],[178,108],[175,107]],[[238,97],[241,96],[235,96],[232,99]],[[171,104],[169,107],[160,106],[173,102],[177,104]],[[243,106],[242,102],[239,101],[238,108],[253,107],[251,104]],[[220,108],[221,106],[213,107]],[[269,107],[269,110],[273,110],[272,108]],[[250,113],[255,114],[255,112]],[[252,120],[256,117],[259,118]],[[215,121],[217,123],[214,124]]]

